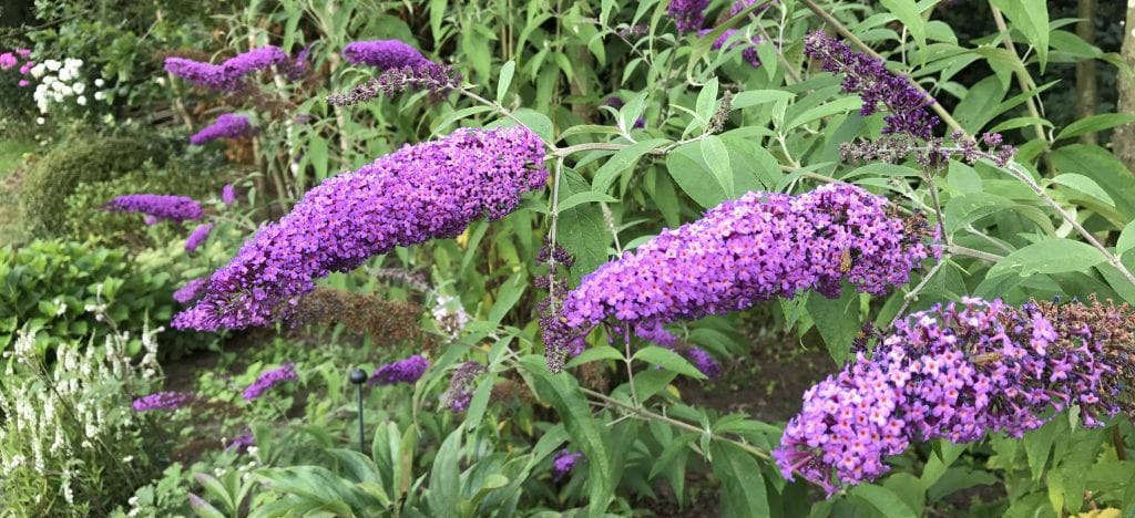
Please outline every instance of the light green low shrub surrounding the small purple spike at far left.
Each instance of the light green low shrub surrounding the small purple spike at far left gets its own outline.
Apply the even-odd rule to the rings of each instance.
[[[200,161],[170,160],[162,167],[153,163],[108,181],[81,184],[67,196],[65,236],[75,240],[95,240],[132,249],[153,247],[155,243],[184,239],[187,229],[177,224],[148,227],[142,218],[102,211],[101,207],[124,194],[176,194],[195,199],[216,197],[221,180],[203,181],[202,170],[213,170]],[[190,228],[196,222],[190,224]]]

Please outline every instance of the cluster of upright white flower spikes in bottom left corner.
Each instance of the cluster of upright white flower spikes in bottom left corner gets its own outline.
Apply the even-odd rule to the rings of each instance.
[[[51,366],[36,350],[35,333],[18,333],[12,350],[5,353],[11,360],[0,384],[0,414],[6,417],[0,423],[0,493],[3,481],[15,475],[36,479],[61,473],[59,490],[74,503],[76,450],[133,443],[126,440],[136,430],[129,394],[148,392],[161,374],[154,338],[161,331],[143,328],[145,355],[137,364],[126,353],[129,334],[114,332],[102,348],[87,343],[81,353],[60,345]],[[108,397],[116,392],[119,397]]]

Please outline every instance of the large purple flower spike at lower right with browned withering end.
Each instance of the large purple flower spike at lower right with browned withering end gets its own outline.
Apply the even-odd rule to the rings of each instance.
[[[785,477],[832,493],[886,473],[883,458],[911,441],[1019,438],[1071,405],[1085,426],[1100,426],[1132,381],[1133,322],[1129,307],[1099,303],[964,298],[915,313],[871,357],[860,351],[805,392],[774,457]]]

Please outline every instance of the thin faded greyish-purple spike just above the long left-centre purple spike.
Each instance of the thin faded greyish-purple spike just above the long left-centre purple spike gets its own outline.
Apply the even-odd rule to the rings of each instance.
[[[328,95],[327,102],[336,107],[347,107],[361,104],[379,95],[393,97],[406,91],[426,91],[432,97],[440,97],[459,86],[461,86],[461,74],[457,74],[456,69],[426,61],[386,70],[346,93]]]

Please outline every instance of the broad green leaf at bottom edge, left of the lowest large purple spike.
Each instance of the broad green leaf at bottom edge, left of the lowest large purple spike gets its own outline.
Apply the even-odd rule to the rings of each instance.
[[[771,516],[768,494],[757,460],[728,442],[714,441],[709,452],[713,473],[721,481],[721,516]]]

